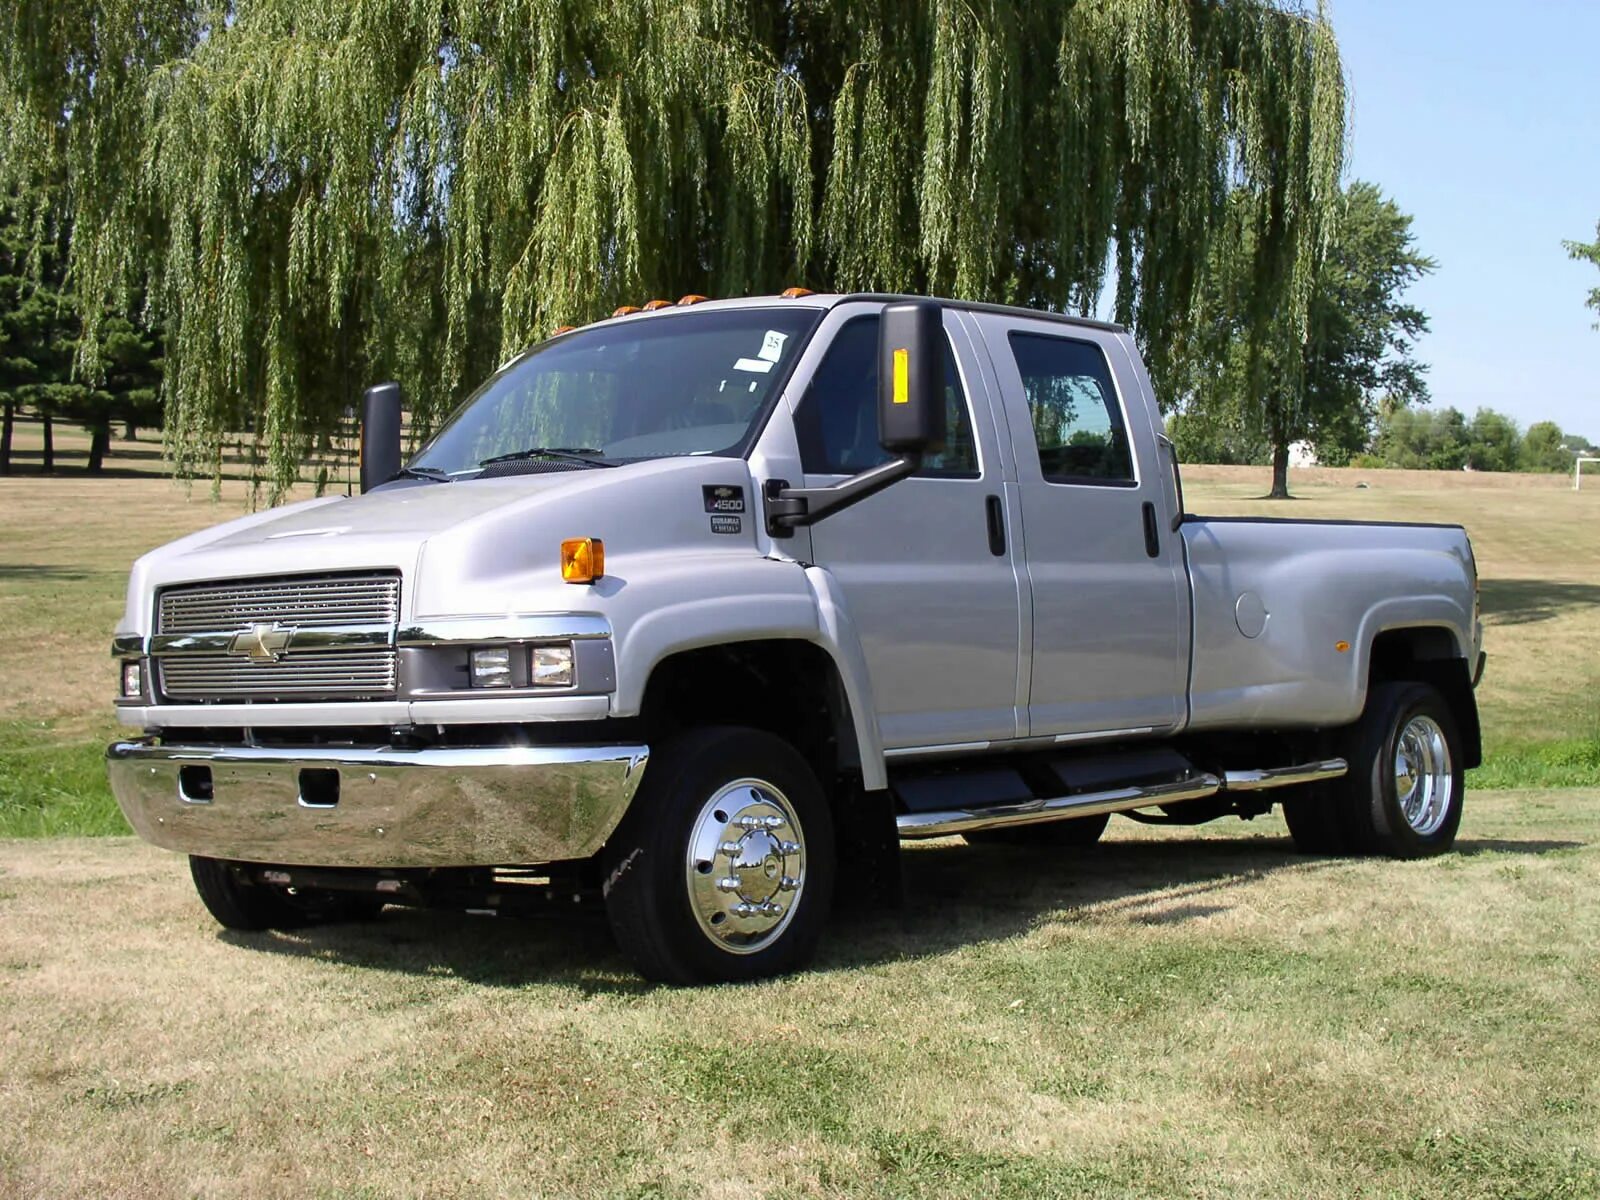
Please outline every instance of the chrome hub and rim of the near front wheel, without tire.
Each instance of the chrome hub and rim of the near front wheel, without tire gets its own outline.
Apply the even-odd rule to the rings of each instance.
[[[805,890],[805,832],[789,797],[736,779],[701,808],[685,861],[701,933],[730,954],[755,954],[789,926]]]

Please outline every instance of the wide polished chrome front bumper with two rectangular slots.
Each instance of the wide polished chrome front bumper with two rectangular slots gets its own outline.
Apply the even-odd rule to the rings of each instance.
[[[645,746],[256,749],[115,742],[134,830],[187,854],[317,867],[469,867],[594,854]],[[331,803],[330,803],[331,802]]]

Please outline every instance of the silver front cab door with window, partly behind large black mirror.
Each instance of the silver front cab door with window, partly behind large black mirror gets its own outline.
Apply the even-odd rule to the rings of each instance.
[[[880,304],[846,304],[795,406],[806,486],[888,459],[878,446]],[[946,312],[946,450],[810,528],[859,630],[885,749],[1018,736],[1019,581],[997,422],[979,352]]]

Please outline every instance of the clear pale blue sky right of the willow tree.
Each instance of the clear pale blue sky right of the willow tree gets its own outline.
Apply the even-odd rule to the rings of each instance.
[[[1600,0],[1333,0],[1349,173],[1416,219],[1434,406],[1600,442]]]

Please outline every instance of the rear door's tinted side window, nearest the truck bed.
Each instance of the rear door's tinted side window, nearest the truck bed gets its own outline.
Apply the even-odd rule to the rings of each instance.
[[[1099,347],[1035,333],[1013,333],[1010,339],[1045,478],[1133,485],[1128,430]]]

